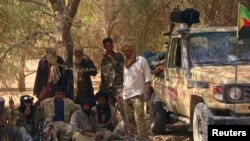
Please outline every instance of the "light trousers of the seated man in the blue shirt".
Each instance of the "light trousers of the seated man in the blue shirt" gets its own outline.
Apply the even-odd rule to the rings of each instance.
[[[70,124],[67,124],[63,121],[54,121],[53,122],[53,129],[52,129],[52,136],[53,141],[71,141],[72,138],[72,131]],[[59,139],[58,139],[59,137]]]

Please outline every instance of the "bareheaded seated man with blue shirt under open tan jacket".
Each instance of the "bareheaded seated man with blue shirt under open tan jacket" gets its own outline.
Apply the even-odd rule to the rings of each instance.
[[[44,131],[44,139],[48,139],[50,134],[52,134],[53,141],[70,141],[72,138],[70,116],[74,111],[80,109],[80,106],[64,96],[64,90],[59,88],[55,97],[45,99],[40,104],[40,110],[48,123]]]

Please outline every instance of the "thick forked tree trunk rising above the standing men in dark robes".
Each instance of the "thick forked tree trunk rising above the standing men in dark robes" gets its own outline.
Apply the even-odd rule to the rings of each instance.
[[[60,47],[63,59],[72,64],[74,45],[70,30],[80,0],[68,1],[67,5],[65,0],[50,0],[50,3],[55,15],[57,46]]]

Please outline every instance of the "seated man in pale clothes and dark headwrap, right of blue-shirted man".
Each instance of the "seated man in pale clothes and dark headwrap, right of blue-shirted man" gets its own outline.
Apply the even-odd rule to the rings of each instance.
[[[82,100],[82,109],[74,112],[70,119],[71,129],[74,131],[73,141],[105,140],[104,130],[94,121],[90,105],[90,99]]]

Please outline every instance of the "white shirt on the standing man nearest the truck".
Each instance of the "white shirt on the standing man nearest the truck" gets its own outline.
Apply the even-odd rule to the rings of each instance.
[[[130,68],[124,67],[123,99],[144,94],[145,83],[151,81],[151,78],[147,60],[137,56],[135,63]]]

